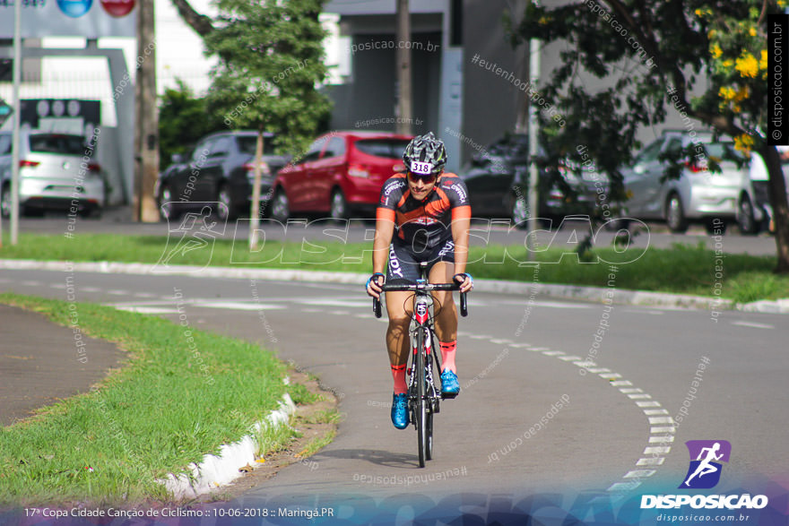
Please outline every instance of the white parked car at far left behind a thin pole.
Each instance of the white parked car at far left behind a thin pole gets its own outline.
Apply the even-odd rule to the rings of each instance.
[[[0,210],[11,214],[12,142],[0,134]],[[82,135],[22,130],[19,151],[19,205],[22,214],[46,210],[98,214],[104,206],[104,178],[98,163],[86,156]],[[87,158],[86,158],[87,157]]]

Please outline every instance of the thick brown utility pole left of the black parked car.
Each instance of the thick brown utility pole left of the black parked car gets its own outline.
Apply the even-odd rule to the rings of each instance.
[[[137,4],[137,72],[134,82],[135,221],[159,220],[153,188],[159,174],[159,113],[156,107],[154,0]]]

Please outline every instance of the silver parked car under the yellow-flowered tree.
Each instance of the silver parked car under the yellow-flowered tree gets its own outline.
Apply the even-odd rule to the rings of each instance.
[[[663,177],[669,166],[661,154],[691,147],[689,158],[677,179]],[[722,233],[737,215],[743,187],[749,184],[748,168],[731,158],[741,157],[733,142],[712,142],[708,134],[694,137],[666,132],[637,154],[622,170],[626,216],[637,220],[664,220],[672,232],[684,232],[689,222],[704,223],[710,233]],[[720,171],[713,170],[715,161]]]

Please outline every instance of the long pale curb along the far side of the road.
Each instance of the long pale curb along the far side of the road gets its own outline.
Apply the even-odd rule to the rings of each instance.
[[[102,272],[141,275],[191,275],[209,278],[244,278],[253,280],[312,281],[320,283],[346,283],[361,287],[368,274],[356,272],[319,272],[277,269],[253,269],[233,267],[198,267],[186,265],[162,266],[150,263],[71,263],[35,260],[0,260],[0,269],[50,270],[63,272]],[[657,306],[721,311],[741,310],[769,314],[789,314],[789,298],[776,301],[755,301],[747,304],[735,303],[720,297],[689,296],[667,292],[625,290],[605,287],[580,287],[577,285],[553,285],[525,281],[474,280],[474,289],[480,292],[524,295],[529,297],[556,297],[580,299],[601,303],[608,301],[621,305]]]

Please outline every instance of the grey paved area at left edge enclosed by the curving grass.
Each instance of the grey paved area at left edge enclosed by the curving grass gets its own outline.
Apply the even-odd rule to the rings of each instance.
[[[82,334],[78,347],[71,327],[22,308],[0,305],[0,319],[0,426],[90,391],[125,357],[115,344]]]

